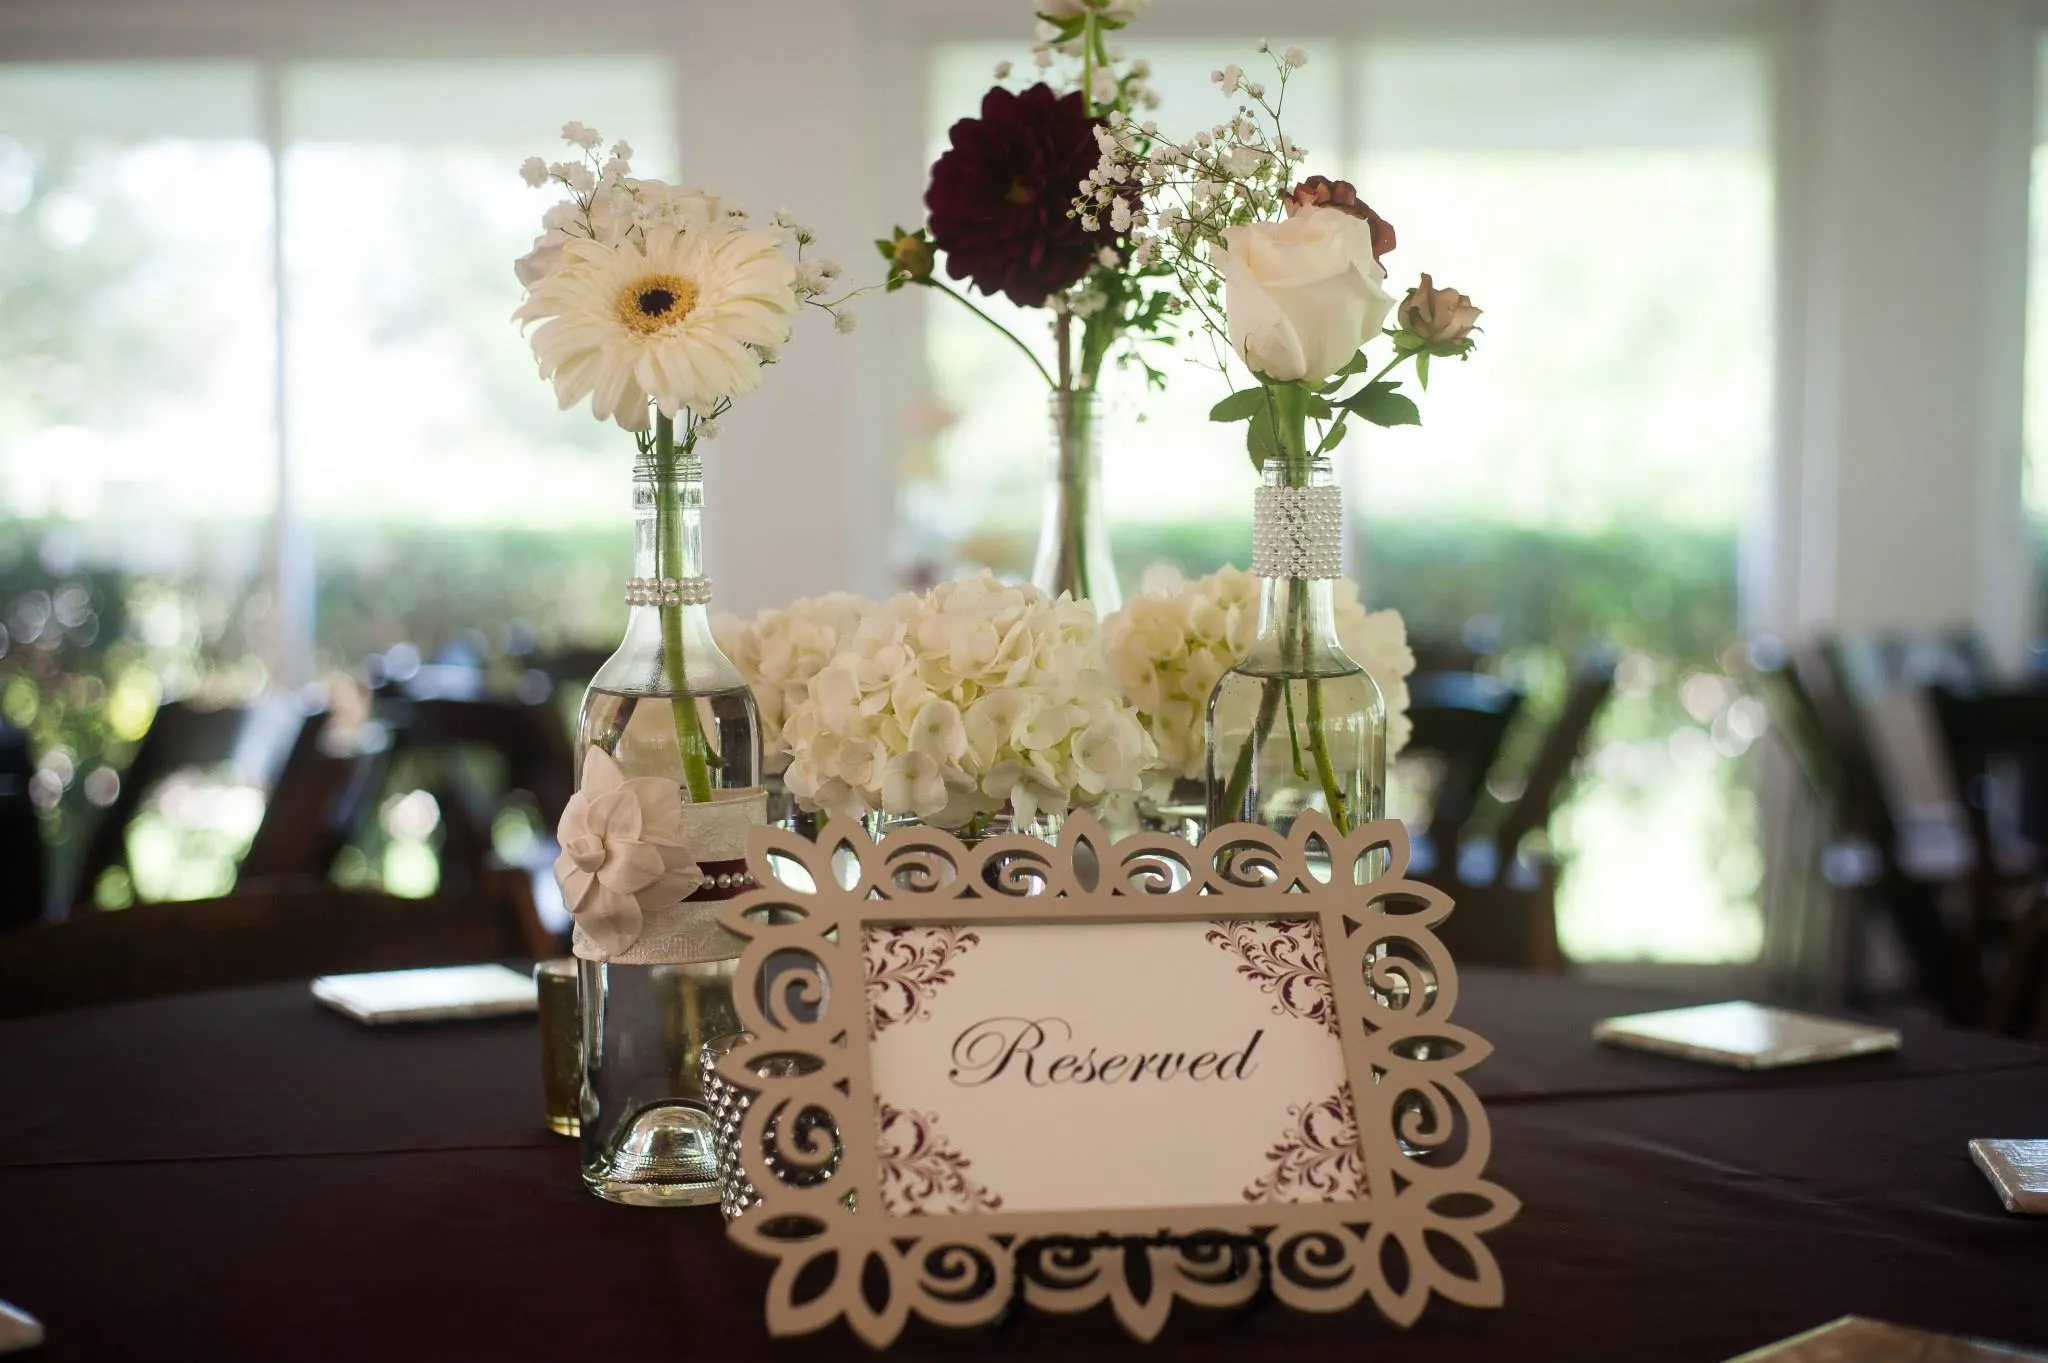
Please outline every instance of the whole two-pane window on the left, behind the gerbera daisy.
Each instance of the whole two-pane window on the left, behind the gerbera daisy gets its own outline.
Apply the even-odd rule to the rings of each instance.
[[[0,708],[59,858],[164,694],[616,628],[627,473],[510,321],[563,108],[674,164],[653,57],[0,65]],[[250,794],[166,790],[115,898],[225,888]]]

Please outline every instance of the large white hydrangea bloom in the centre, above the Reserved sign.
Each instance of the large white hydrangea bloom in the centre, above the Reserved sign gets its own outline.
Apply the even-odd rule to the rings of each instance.
[[[991,573],[872,608],[791,700],[780,735],[809,808],[942,827],[1004,806],[1022,821],[1094,806],[1137,790],[1155,761],[1110,684],[1094,612]]]

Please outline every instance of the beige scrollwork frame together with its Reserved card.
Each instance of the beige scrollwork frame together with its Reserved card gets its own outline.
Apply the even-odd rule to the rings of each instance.
[[[1491,1048],[1450,1021],[1452,905],[1407,853],[1321,815],[1200,845],[756,829],[760,888],[719,911],[752,1040],[719,1074],[756,1095],[729,1230],[776,1261],[770,1332],[1499,1306],[1481,1236],[1520,1203],[1464,1079]]]

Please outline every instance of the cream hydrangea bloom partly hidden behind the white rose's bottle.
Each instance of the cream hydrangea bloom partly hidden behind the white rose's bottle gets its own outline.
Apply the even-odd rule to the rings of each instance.
[[[1260,577],[1221,567],[1192,581],[1165,579],[1124,602],[1102,622],[1110,673],[1137,706],[1159,751],[1155,772],[1167,780],[1200,780],[1206,761],[1204,720],[1217,682],[1257,636]],[[1380,688],[1386,702],[1386,757],[1407,747],[1409,673],[1415,653],[1399,610],[1368,612],[1358,583],[1331,583],[1337,643]]]

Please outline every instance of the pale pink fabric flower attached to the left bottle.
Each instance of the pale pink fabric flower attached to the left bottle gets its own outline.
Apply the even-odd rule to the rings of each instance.
[[[629,778],[600,747],[584,753],[584,780],[555,837],[561,903],[606,956],[639,941],[647,913],[688,898],[705,882],[684,845],[682,786]]]

